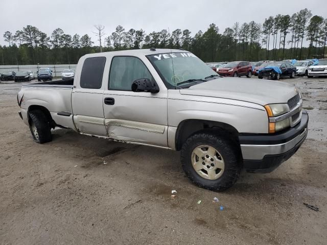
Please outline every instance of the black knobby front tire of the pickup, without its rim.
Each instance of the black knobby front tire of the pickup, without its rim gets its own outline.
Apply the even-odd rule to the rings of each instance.
[[[216,180],[204,179],[192,166],[192,152],[199,145],[211,145],[221,154],[225,168],[222,176]],[[196,185],[214,191],[223,191],[238,180],[241,172],[241,158],[238,148],[227,137],[215,132],[200,132],[190,136],[182,145],[180,160],[189,179]]]

